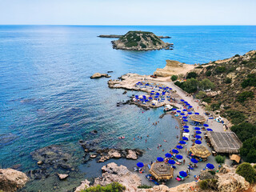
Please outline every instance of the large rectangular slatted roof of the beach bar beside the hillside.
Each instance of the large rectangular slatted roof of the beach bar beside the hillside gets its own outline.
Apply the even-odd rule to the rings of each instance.
[[[234,132],[208,131],[208,138],[217,153],[238,154],[242,142]]]

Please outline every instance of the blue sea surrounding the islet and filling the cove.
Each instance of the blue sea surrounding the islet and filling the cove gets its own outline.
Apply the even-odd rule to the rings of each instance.
[[[98,38],[129,30],[170,36],[162,40],[174,43],[174,49],[114,50],[114,38]],[[0,26],[0,168],[38,169],[30,153],[58,144],[78,159],[77,174],[66,182],[55,176],[48,184],[31,181],[26,190],[69,191],[82,179],[100,175],[107,163],[82,162],[81,139],[95,140],[102,148],[138,148],[145,151],[138,161],[154,161],[164,155],[162,149],[177,143],[177,120],[170,115],[160,119],[162,108],[117,106],[143,93],[122,94],[124,90],[108,88],[109,78],[90,76],[107,71],[113,71],[111,79],[153,74],[166,66],[166,59],[203,64],[255,49],[256,26]],[[109,162],[132,169],[138,161]]]

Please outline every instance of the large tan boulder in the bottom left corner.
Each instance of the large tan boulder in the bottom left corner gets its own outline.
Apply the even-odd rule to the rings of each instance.
[[[13,169],[0,169],[0,190],[5,192],[16,191],[28,182],[26,174]]]

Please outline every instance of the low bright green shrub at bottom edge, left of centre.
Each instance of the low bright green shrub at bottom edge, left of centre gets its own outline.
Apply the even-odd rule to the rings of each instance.
[[[112,182],[106,186],[90,186],[86,190],[82,190],[82,192],[122,192],[124,190],[126,190],[125,186],[118,182]]]

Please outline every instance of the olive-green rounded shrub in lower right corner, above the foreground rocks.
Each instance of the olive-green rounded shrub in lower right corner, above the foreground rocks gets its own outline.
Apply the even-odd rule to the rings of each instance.
[[[248,162],[239,165],[235,172],[245,178],[247,182],[256,182],[256,172]]]

